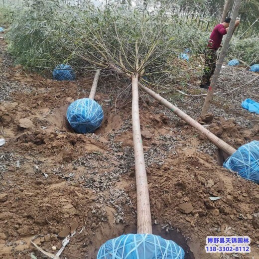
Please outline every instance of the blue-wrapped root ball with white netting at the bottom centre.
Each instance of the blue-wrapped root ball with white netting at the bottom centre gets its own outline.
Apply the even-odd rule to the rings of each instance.
[[[107,241],[97,259],[184,259],[184,251],[171,240],[149,234],[128,234]]]

